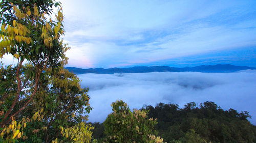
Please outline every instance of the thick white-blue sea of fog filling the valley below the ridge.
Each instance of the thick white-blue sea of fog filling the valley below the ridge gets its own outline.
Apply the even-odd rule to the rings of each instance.
[[[153,72],[124,74],[80,74],[83,88],[89,88],[89,122],[103,122],[112,112],[111,103],[124,100],[131,109],[157,103],[179,107],[195,101],[212,101],[221,108],[249,111],[256,125],[256,70],[236,73]]]

